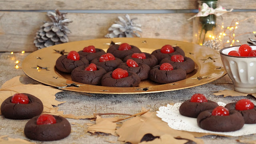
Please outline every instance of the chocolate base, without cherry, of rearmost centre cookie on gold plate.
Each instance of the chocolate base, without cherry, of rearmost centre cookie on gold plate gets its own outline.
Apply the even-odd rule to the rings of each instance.
[[[140,49],[136,46],[130,45],[132,47],[130,50],[118,50],[119,46],[120,45],[114,44],[108,48],[107,52],[113,54],[116,58],[120,58],[121,60],[130,54],[141,53]]]

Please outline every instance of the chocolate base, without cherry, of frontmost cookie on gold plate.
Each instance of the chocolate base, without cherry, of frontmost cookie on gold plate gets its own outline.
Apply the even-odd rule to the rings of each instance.
[[[128,72],[129,76],[126,78],[114,79],[112,72],[106,73],[101,80],[102,86],[110,87],[135,87],[140,84],[140,77],[134,72]]]

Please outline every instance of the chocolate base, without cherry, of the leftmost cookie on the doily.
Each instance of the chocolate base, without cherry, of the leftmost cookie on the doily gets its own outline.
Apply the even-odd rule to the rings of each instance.
[[[208,100],[208,102],[190,102],[186,100],[180,105],[180,114],[191,118],[197,118],[200,112],[212,110],[219,106],[216,102]]]

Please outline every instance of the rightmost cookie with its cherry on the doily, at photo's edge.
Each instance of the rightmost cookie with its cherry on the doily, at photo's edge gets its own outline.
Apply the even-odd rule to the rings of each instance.
[[[245,124],[256,124],[256,107],[249,99],[242,99],[225,106],[228,110],[237,110],[244,117]]]

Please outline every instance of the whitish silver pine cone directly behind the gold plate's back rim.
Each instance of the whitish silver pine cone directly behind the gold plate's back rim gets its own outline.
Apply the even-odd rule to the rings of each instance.
[[[110,28],[108,28],[109,34],[106,34],[106,38],[132,38],[132,37],[140,37],[141,25],[135,24],[133,21],[138,18],[130,19],[128,14],[125,15],[125,18],[118,16],[119,21],[112,24]]]

